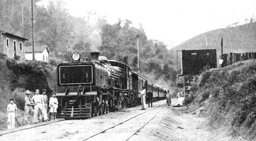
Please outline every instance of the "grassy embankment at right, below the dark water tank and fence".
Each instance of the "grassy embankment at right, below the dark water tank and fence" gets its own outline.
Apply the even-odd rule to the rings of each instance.
[[[256,60],[203,72],[191,89],[190,112],[207,117],[214,128],[255,140]]]

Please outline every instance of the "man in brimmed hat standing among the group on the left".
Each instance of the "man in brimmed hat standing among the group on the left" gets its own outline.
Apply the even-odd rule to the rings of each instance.
[[[30,98],[31,92],[30,92],[29,90],[27,90],[27,91],[25,92],[25,94],[26,94],[27,96],[25,97],[25,100],[24,100],[24,101],[25,101],[24,120],[28,123],[28,115],[29,115],[29,113],[31,113],[31,115],[33,115],[32,113],[34,113],[34,109],[33,109],[33,107],[32,107],[32,105],[34,105],[34,102],[33,102],[33,101],[31,100],[31,98]]]

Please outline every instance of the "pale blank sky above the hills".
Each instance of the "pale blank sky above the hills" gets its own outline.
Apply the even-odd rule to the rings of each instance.
[[[47,5],[42,0],[39,5]],[[148,39],[164,42],[168,49],[198,34],[226,28],[229,24],[256,16],[256,0],[63,0],[69,14],[84,17],[86,12],[105,16],[109,24],[118,19],[142,24]],[[248,20],[249,21],[249,20]],[[92,20],[92,22],[94,22]]]

